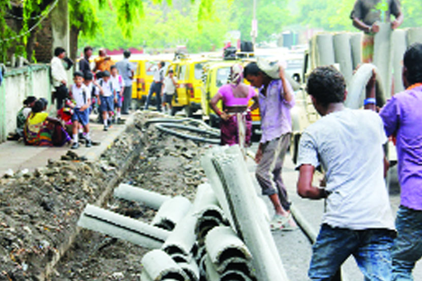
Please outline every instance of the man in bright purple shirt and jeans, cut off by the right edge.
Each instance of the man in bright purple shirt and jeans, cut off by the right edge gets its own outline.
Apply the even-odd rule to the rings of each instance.
[[[422,256],[422,44],[411,45],[403,58],[405,91],[381,109],[387,136],[397,137],[401,205],[393,248],[392,280],[413,280]]]

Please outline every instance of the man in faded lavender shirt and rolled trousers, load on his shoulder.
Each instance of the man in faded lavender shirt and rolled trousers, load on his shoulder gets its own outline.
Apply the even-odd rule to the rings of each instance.
[[[281,170],[292,130],[290,108],[294,105],[293,90],[282,67],[265,61],[258,64],[250,63],[244,70],[244,77],[252,86],[259,88],[262,137],[255,155],[258,164],[255,176],[262,195],[269,196],[274,205],[276,214],[270,227],[272,230],[289,230],[296,225],[290,216],[290,202]],[[251,110],[255,109],[255,104]]]

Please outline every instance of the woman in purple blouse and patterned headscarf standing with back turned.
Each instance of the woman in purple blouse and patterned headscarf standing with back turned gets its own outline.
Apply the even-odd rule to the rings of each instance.
[[[243,67],[235,64],[230,68],[230,83],[219,88],[210,100],[210,107],[220,116],[221,145],[240,144],[249,146],[252,137],[251,110],[258,107],[255,90],[243,83]],[[255,103],[248,108],[249,101]],[[217,108],[223,102],[223,111]]]

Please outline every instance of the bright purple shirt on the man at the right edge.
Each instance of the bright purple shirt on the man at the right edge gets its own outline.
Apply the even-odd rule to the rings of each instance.
[[[381,109],[387,136],[397,136],[401,204],[422,210],[422,86],[394,95]]]

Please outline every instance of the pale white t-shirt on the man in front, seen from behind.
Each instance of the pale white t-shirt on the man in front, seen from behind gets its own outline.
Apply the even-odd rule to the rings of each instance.
[[[370,110],[330,113],[303,132],[297,167],[321,164],[325,189],[331,192],[322,223],[353,230],[394,229],[383,178],[386,142],[382,120]]]

